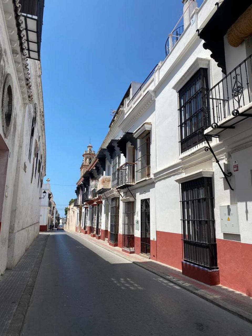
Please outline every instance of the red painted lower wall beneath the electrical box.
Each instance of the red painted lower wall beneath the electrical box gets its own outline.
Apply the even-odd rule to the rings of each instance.
[[[216,241],[220,284],[252,296],[252,244]]]

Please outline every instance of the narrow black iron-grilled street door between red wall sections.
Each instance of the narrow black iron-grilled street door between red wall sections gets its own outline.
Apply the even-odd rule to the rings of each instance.
[[[151,255],[150,199],[141,200],[141,253]]]

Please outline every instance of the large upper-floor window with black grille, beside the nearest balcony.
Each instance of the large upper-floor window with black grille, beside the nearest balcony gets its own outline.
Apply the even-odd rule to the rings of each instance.
[[[199,131],[210,126],[209,114],[203,109],[207,90],[207,69],[201,68],[178,92],[181,153],[204,141]]]

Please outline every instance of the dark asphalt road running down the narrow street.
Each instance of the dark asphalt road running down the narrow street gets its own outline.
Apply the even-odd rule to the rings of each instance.
[[[75,234],[54,232],[21,335],[251,336],[252,325]]]

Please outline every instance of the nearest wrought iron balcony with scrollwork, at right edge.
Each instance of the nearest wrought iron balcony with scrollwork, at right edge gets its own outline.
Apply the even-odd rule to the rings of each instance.
[[[203,96],[204,119],[211,124],[205,135],[218,135],[252,117],[251,57],[247,57]]]

